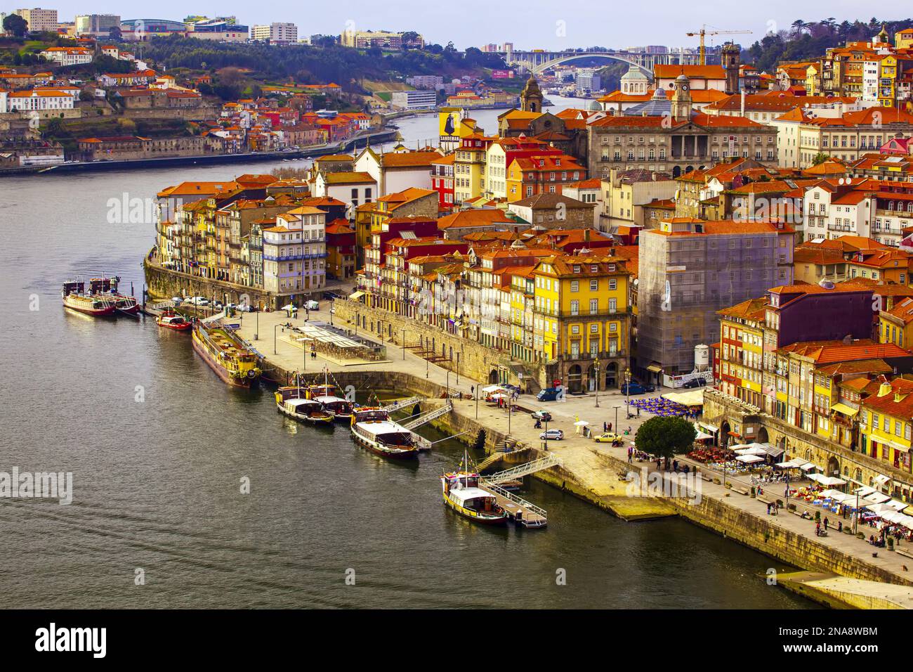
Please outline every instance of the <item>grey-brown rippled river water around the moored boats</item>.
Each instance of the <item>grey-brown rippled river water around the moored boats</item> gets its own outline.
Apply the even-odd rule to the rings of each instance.
[[[497,115],[477,120],[491,133]],[[432,116],[399,125],[410,144],[436,133]],[[142,288],[152,224],[109,223],[109,199],[273,167],[0,181],[0,472],[74,479],[68,506],[0,500],[5,606],[812,606],[759,578],[776,561],[537,482],[526,496],[549,528],[474,527],[440,501],[456,444],[387,463],[346,428],[287,421],[268,390],[226,388],[186,335],[63,310],[60,284],[78,273]]]

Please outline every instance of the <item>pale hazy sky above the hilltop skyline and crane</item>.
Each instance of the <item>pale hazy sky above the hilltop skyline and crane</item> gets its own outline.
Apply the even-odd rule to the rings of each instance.
[[[9,3],[10,0],[6,0]],[[0,12],[22,6],[21,0],[0,4]],[[761,3],[720,0],[651,0],[621,3],[611,0],[459,0],[437,3],[428,0],[333,0],[330,3],[272,0],[257,4],[249,0],[158,0],[155,3],[126,0],[41,0],[37,6],[57,8],[61,21],[77,14],[119,14],[121,18],[169,18],[189,14],[236,16],[238,23],[252,26],[274,21],[297,24],[299,36],[339,35],[346,27],[356,30],[415,30],[426,41],[456,48],[481,47],[488,43],[513,42],[516,49],[563,49],[578,47],[624,48],[644,45],[697,47],[697,37],[688,31],[709,24],[726,30],[750,30],[750,35],[718,36],[708,44],[732,38],[743,45],[772,30],[788,29],[794,20],[818,21],[830,16],[840,22],[868,21],[876,11],[879,19],[913,15],[913,6],[901,0],[864,5],[858,0],[831,0],[827,4],[803,5],[795,0]],[[319,7],[314,9],[313,7]],[[517,7],[516,13],[512,8]],[[135,8],[135,9],[134,9]],[[332,11],[327,11],[328,9]],[[152,14],[150,14],[152,13]],[[817,15],[821,16],[817,16]]]

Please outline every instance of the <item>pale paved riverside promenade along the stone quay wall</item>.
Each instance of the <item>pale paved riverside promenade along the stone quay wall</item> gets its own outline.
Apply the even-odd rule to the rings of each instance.
[[[329,306],[329,302],[321,302],[321,307],[325,308],[327,306]],[[309,317],[310,321],[329,323],[331,315],[324,309],[321,311],[312,311]],[[259,337],[255,340],[254,335],[257,320]],[[239,320],[233,318],[231,321],[237,322]],[[250,341],[262,355],[267,357],[269,362],[275,363],[279,367],[289,371],[301,370],[303,364],[301,347],[289,339],[290,334],[288,330],[283,333],[282,325],[290,323],[292,325],[300,326],[304,322],[303,316],[289,319],[285,313],[272,312],[247,314],[244,315],[240,321],[242,322],[239,329],[240,335]],[[348,325],[344,322],[342,324],[337,324],[337,326],[352,328],[352,325]],[[381,342],[378,336],[362,333],[361,330],[359,331],[359,336],[372,339],[377,343]],[[477,380],[467,379],[465,376],[459,376],[457,380],[457,376],[454,372],[448,372],[446,369],[440,368],[434,363],[426,362],[425,359],[416,356],[409,349],[404,350],[402,347],[397,347],[393,343],[384,343],[383,345],[387,347],[387,357],[385,361],[345,364],[330,361],[320,356],[316,359],[307,357],[306,364],[304,365],[305,370],[308,374],[315,375],[320,373],[324,367],[328,368],[331,373],[356,370],[379,373],[383,373],[384,371],[396,371],[407,373],[417,379],[426,378],[437,385],[442,387],[448,386],[450,389],[459,391],[465,395],[471,395],[471,389],[473,387],[478,388],[478,386],[485,387],[485,385],[487,385],[485,382],[480,383]],[[405,393],[406,392],[404,391],[404,394]],[[661,393],[661,391],[656,392],[656,394],[659,393]],[[698,522],[698,524],[705,525],[705,523],[699,519],[688,516],[687,504],[683,503],[681,506],[670,506],[669,502],[664,498],[653,496],[626,496],[627,484],[619,479],[619,473],[624,472],[624,470],[628,468],[636,472],[645,469],[647,472],[652,473],[656,470],[656,464],[635,462],[634,464],[627,465],[627,443],[625,443],[624,447],[619,448],[613,448],[609,443],[595,443],[592,439],[584,438],[582,435],[576,433],[576,428],[573,423],[578,420],[589,421],[594,434],[602,432],[603,422],[612,422],[614,430],[620,430],[621,432],[624,432],[624,430],[630,427],[631,433],[624,438],[625,440],[634,440],[637,429],[643,422],[652,416],[649,413],[643,412],[639,418],[632,417],[631,419],[627,419],[625,417],[625,397],[618,391],[607,393],[600,392],[598,396],[598,407],[596,406],[596,401],[596,396],[593,393],[589,393],[582,396],[569,396],[564,402],[553,401],[543,403],[538,402],[530,395],[520,395],[517,403],[519,407],[525,411],[542,409],[551,412],[553,420],[548,426],[550,429],[561,429],[564,432],[564,440],[549,441],[547,449],[551,453],[555,453],[561,457],[562,465],[559,472],[568,475],[577,485],[579,485],[576,490],[578,491],[578,494],[582,494],[581,496],[583,496],[583,498],[593,501],[594,504],[600,506],[603,506],[604,504],[606,505],[604,506],[605,508],[613,510],[626,519],[663,517],[678,514],[693,519]],[[518,411],[509,414],[507,411],[492,408],[491,405],[486,404],[483,400],[456,400],[454,403],[454,413],[462,416],[465,421],[475,421],[477,425],[483,428],[489,428],[502,434],[509,435],[532,448],[541,450],[544,447],[543,442],[539,438],[541,431],[533,427],[534,421],[526,412]],[[700,471],[705,471],[703,464],[691,463],[687,458],[682,457],[679,458],[678,461],[679,464],[691,464],[692,467],[697,466]],[[556,479],[554,477],[546,477],[546,475],[541,476],[555,485],[561,485],[561,477]],[[750,481],[747,478],[727,475],[726,480],[731,483],[734,488],[750,492]],[[783,485],[771,485],[770,490],[765,491],[765,494],[770,495],[771,498],[774,499],[782,499]],[[770,534],[771,531],[774,534],[778,532],[782,533],[782,539],[784,539],[786,543],[795,546],[796,549],[799,549],[800,546],[804,548],[805,545],[808,545],[809,547],[813,547],[819,555],[826,555],[828,551],[832,551],[834,555],[845,557],[850,565],[858,563],[858,567],[863,570],[861,571],[863,574],[871,574],[874,572],[879,577],[882,577],[880,579],[881,581],[906,584],[906,586],[913,585],[913,572],[908,571],[908,568],[913,569],[913,558],[902,556],[897,552],[892,552],[887,549],[876,549],[862,539],[857,539],[853,535],[840,533],[833,529],[827,537],[816,537],[814,534],[815,524],[813,520],[807,520],[792,513],[788,513],[785,508],[780,509],[780,513],[777,516],[768,516],[767,506],[762,499],[743,495],[735,489],[730,490],[723,485],[714,483],[712,480],[700,481],[700,496],[711,502],[721,503],[726,507],[733,507],[735,512],[740,515],[744,514],[750,516],[752,521],[757,521],[759,526],[768,530],[765,534]],[[815,510],[815,507],[810,504],[806,505],[804,502],[799,504],[797,508],[800,512],[807,509],[812,515]],[[628,515],[625,515],[625,513]],[[824,519],[825,515],[826,514],[823,512],[822,519]],[[836,525],[837,517],[835,515],[830,515],[829,517],[831,517],[834,525]],[[848,523],[848,521],[844,522]],[[706,527],[713,527],[725,536],[739,539],[737,529],[730,529],[728,531],[725,527],[716,528],[713,525],[707,525]],[[866,538],[868,537],[868,534],[874,533],[874,530],[869,531],[870,528],[864,526],[860,526],[859,530],[866,532]],[[748,541],[746,541],[746,543],[748,543]],[[755,546],[756,548],[763,546],[763,544],[751,543],[749,545]],[[908,545],[907,542],[903,542],[898,548],[913,551],[913,544]],[[815,569],[808,566],[813,564],[811,560],[809,563],[803,564],[795,558],[784,557],[788,553],[777,552],[777,549],[758,549],[778,557],[781,560],[791,562],[792,564],[798,564],[803,567],[803,569]],[[873,557],[873,553],[876,553],[877,556]],[[802,553],[800,552],[799,560],[801,560],[801,558]],[[834,573],[840,572],[834,571]],[[846,571],[845,573],[851,574],[856,572]],[[909,589],[908,592],[901,591],[901,593],[903,595],[908,595],[908,603],[910,606],[913,606],[913,588]],[[897,599],[900,599],[900,595],[897,596]]]

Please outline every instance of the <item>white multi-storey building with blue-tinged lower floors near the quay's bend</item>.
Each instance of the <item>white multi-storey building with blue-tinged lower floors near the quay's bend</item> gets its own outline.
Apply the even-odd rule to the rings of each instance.
[[[263,288],[295,294],[326,285],[326,217],[320,208],[303,206],[276,216],[263,229]]]

